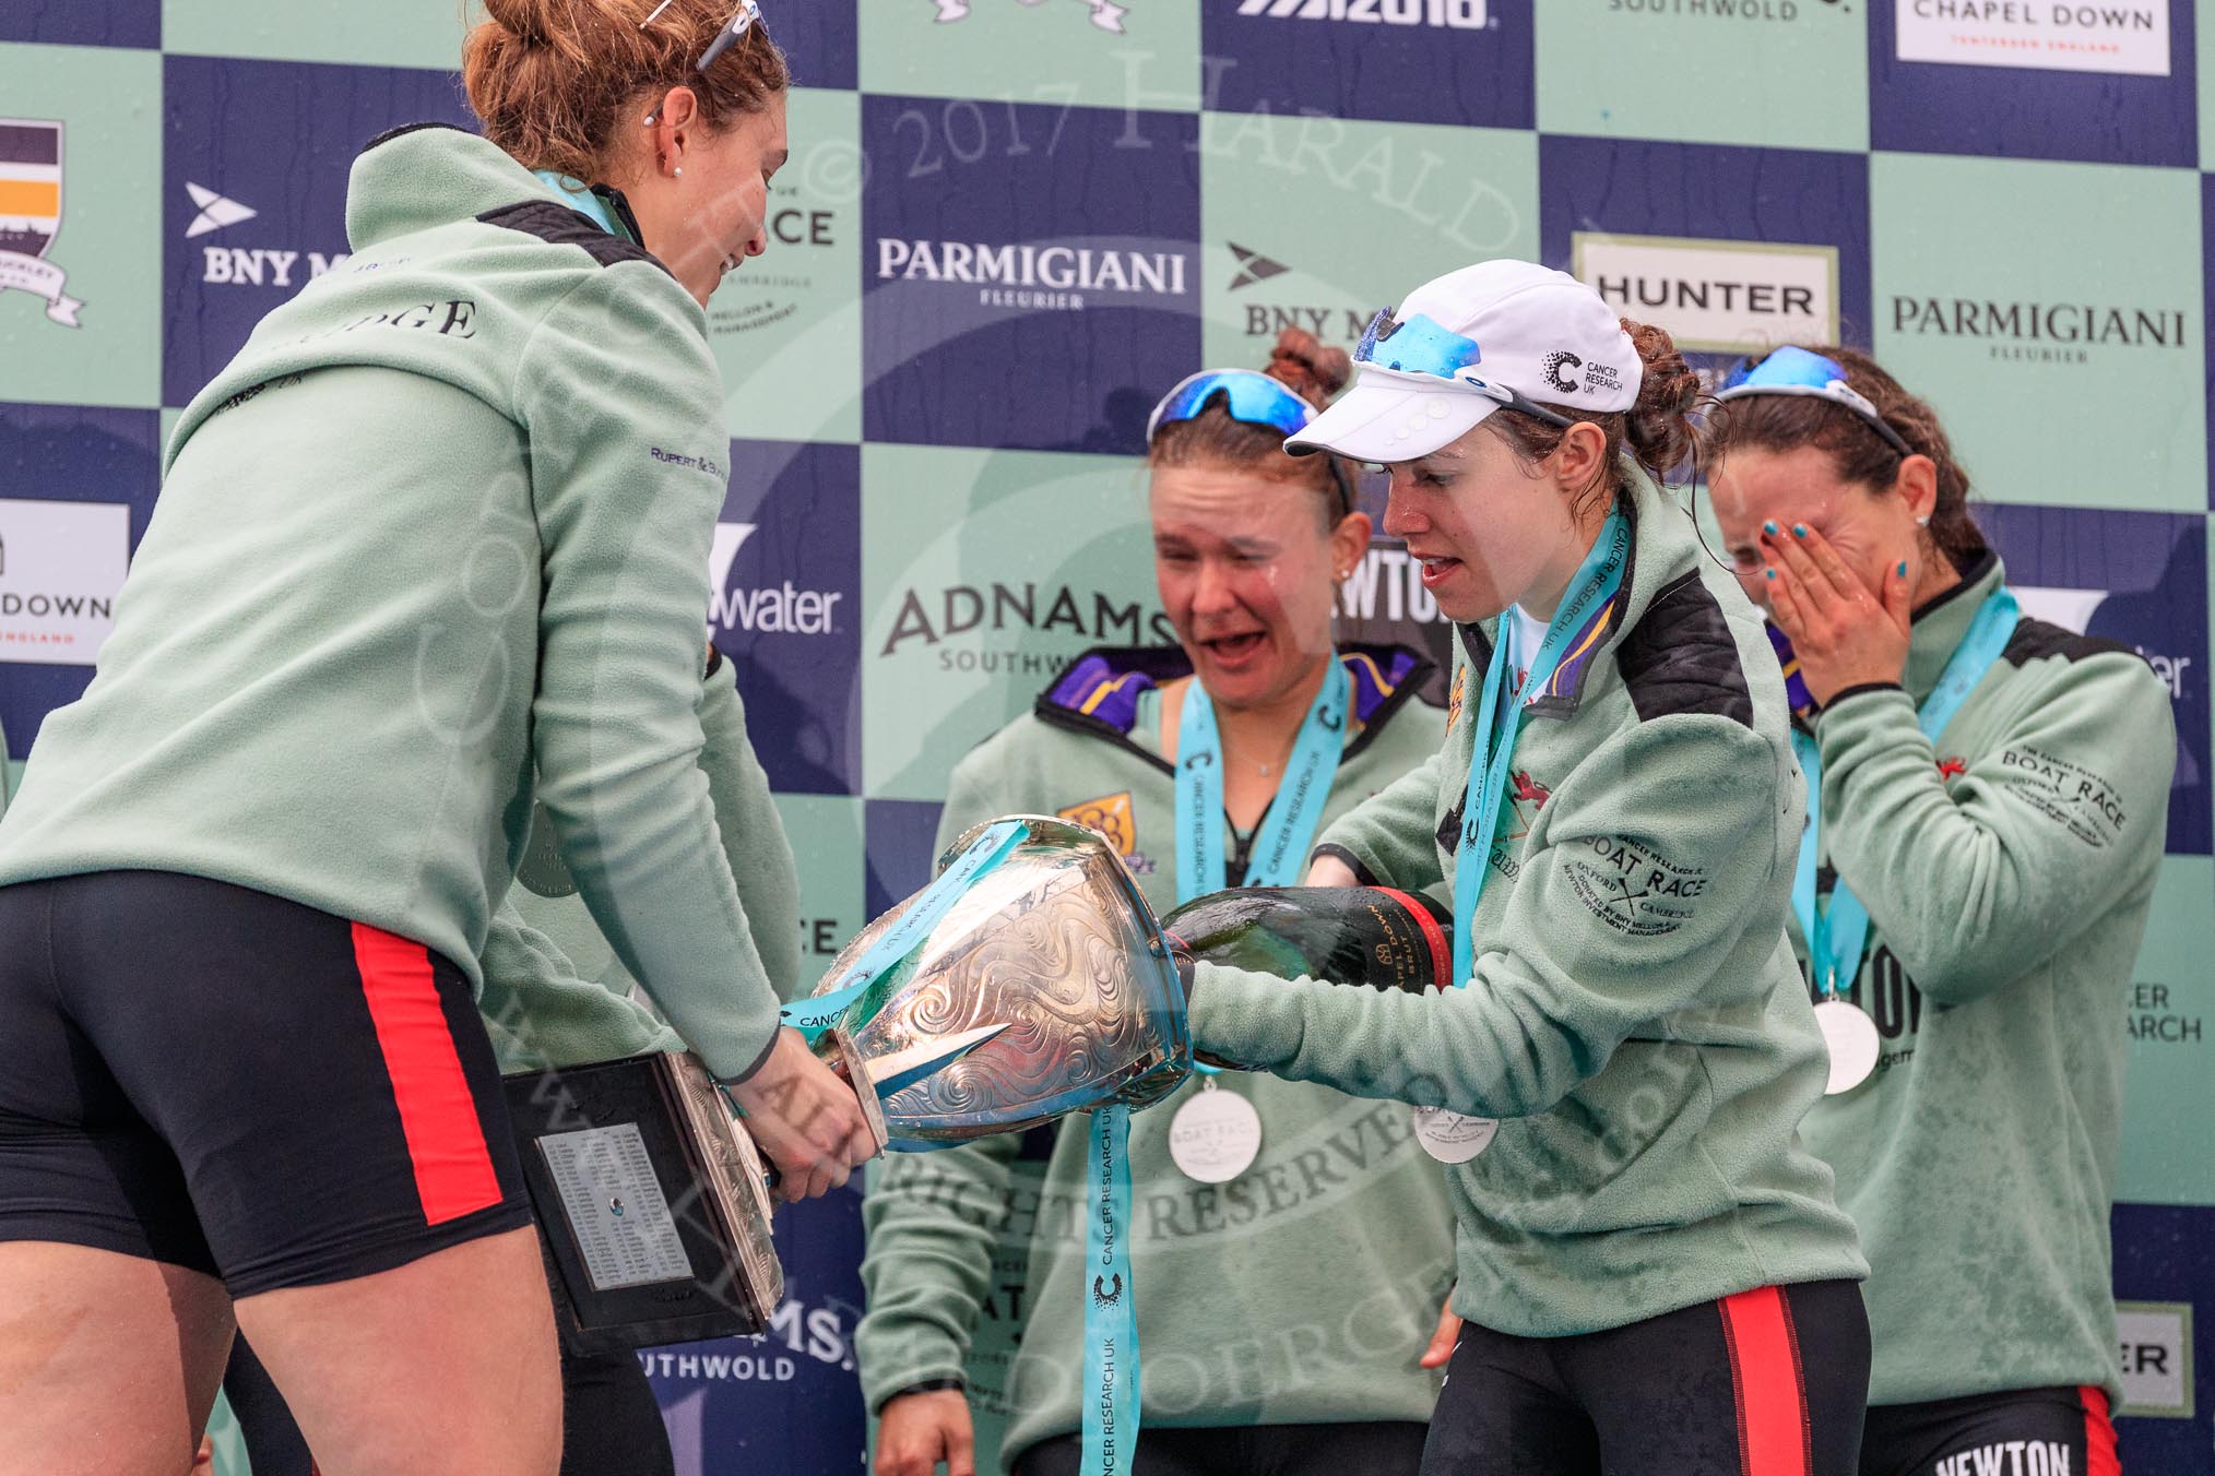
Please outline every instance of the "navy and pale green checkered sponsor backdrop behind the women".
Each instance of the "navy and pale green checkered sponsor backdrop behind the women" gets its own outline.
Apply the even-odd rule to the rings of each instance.
[[[1931,396],[2031,613],[2168,684],[2115,1215],[2133,1469],[2215,1472],[2206,29],[2182,0],[764,0],[793,58],[771,252],[718,292],[715,642],[828,960],[913,890],[948,768],[1072,655],[1161,640],[1154,396],[1351,343],[1495,254],[1701,363],[1874,345]],[[372,133],[465,122],[454,0],[0,7],[0,726],[73,699],[159,436],[346,257]],[[1349,626],[1442,637],[1378,547]],[[1974,1233],[1974,1228],[1965,1228]],[[653,1352],[687,1476],[862,1461],[859,1217],[786,1215],[762,1339]],[[1019,1259],[1019,1257],[1017,1257]],[[999,1268],[979,1361],[1019,1312]],[[997,1341],[995,1341],[997,1339]],[[226,1467],[244,1469],[235,1449]]]

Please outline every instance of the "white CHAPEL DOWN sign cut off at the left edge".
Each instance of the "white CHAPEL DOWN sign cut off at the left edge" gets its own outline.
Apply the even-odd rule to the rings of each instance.
[[[128,569],[122,502],[0,498],[0,662],[91,666]]]

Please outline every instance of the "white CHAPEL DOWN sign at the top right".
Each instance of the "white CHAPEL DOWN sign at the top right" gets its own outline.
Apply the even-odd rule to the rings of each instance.
[[[1894,0],[1903,62],[2168,75],[2168,0]]]

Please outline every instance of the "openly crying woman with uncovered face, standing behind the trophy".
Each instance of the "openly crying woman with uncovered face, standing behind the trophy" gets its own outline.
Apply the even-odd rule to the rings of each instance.
[[[1345,383],[1313,339],[1291,339],[1274,374]],[[1251,372],[1178,385],[1150,436],[1152,531],[1176,646],[1094,651],[1028,717],[955,768],[939,841],[1008,814],[1065,814],[1101,830],[1156,909],[1294,872],[1316,819],[1338,817],[1438,748],[1435,708],[1415,701],[1429,664],[1409,651],[1331,646],[1336,580],[1362,558],[1369,520],[1327,462],[1282,454],[1307,405]],[[1311,710],[1345,684],[1351,721]],[[1225,772],[1203,817],[1214,859],[1192,852],[1174,766],[1209,748]],[[1291,772],[1287,772],[1287,766]],[[1280,794],[1318,775],[1313,814]],[[1282,832],[1298,830],[1296,836]],[[1172,1157],[1178,1113],[1205,1095],[1251,1104],[1249,1164],[1196,1179]],[[1010,1195],[1019,1137],[897,1155],[875,1173],[864,1217],[868,1314],[862,1390],[882,1410],[879,1476],[975,1469],[964,1365],[979,1310],[1006,1301],[995,1246],[1028,1246],[1021,1350],[999,1396],[1001,1467],[1079,1469],[1088,1299],[1085,1122],[1059,1124],[1039,1204]],[[1139,1472],[1413,1472],[1435,1374],[1424,1334],[1451,1281],[1453,1215],[1407,1115],[1325,1087],[1271,1078],[1187,1082],[1130,1124],[1143,1427]],[[1225,1177],[1229,1175],[1229,1177]],[[1008,1308],[1014,1314],[1014,1306]],[[1442,1350],[1440,1359],[1442,1361]],[[990,1467],[988,1467],[990,1469]]]

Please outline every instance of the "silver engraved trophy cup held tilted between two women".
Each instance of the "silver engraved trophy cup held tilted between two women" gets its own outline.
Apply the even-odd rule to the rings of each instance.
[[[1008,823],[1023,836],[835,1020],[864,1062],[999,1027],[884,1098],[895,1151],[1019,1133],[1094,1106],[1145,1106],[1192,1071],[1183,983],[1154,909],[1105,836],[1017,814],[966,832],[941,865]],[[833,994],[926,894],[864,927],[817,996]]]

